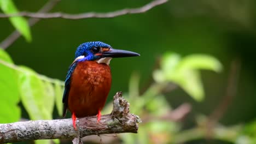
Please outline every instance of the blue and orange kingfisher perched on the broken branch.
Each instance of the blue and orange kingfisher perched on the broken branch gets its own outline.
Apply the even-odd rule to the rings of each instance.
[[[91,41],[77,47],[74,61],[67,72],[62,98],[63,117],[67,110],[72,113],[74,129],[77,117],[97,115],[97,122],[100,122],[101,110],[112,83],[110,60],[134,56],[139,54],[113,49],[101,41]]]

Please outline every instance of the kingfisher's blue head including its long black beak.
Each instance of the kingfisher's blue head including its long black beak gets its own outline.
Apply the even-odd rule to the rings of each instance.
[[[114,57],[139,56],[136,52],[113,49],[110,45],[101,41],[92,41],[81,44],[75,51],[75,61],[97,61],[109,64]]]

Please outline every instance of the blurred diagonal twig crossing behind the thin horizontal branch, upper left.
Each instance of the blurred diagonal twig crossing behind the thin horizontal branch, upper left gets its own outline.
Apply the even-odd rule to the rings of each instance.
[[[46,13],[54,8],[54,6],[59,2],[60,0],[50,0],[48,1],[39,11],[38,13]],[[1,14],[0,14],[1,15]],[[37,18],[31,18],[28,20],[28,25],[33,26],[35,25],[40,19]],[[20,37],[20,33],[18,31],[14,31],[11,33],[7,38],[5,38],[2,43],[0,44],[0,47],[2,49],[7,49],[11,44],[14,43],[15,40],[17,40]]]

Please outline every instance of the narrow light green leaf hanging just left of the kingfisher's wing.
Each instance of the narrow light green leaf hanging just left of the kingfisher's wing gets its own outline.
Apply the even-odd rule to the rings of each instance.
[[[57,107],[57,111],[60,116],[62,116],[62,110],[63,110],[63,104],[62,104],[62,96],[63,96],[63,90],[61,86],[61,82],[59,80],[56,80],[54,82],[54,91],[55,91],[55,103]]]

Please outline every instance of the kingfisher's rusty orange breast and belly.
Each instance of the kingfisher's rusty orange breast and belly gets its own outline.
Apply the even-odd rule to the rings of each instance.
[[[111,81],[107,64],[79,62],[72,74],[68,95],[69,111],[77,117],[97,115],[106,103]]]

